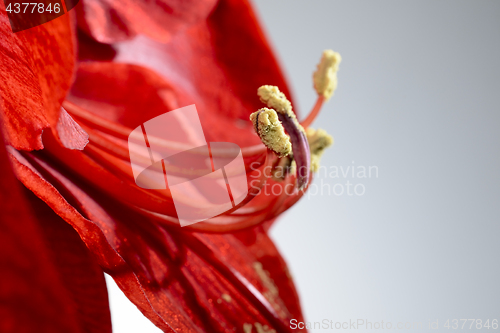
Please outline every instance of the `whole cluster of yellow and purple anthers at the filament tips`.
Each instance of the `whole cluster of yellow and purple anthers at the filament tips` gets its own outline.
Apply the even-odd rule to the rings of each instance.
[[[293,163],[295,163],[299,190],[308,184],[310,171],[319,169],[321,155],[333,144],[333,138],[326,131],[308,127],[319,114],[323,103],[332,97],[337,88],[340,61],[338,53],[332,50],[323,52],[317,70],[313,74],[318,100],[302,123],[299,123],[292,111],[292,104],[278,87],[264,85],[257,90],[257,95],[267,108],[252,113],[250,120],[262,143],[280,157],[277,167],[286,170],[284,173],[281,172],[280,176],[276,176],[277,172],[273,172],[274,178],[284,179],[287,173],[294,169]],[[304,130],[304,127],[307,130]]]

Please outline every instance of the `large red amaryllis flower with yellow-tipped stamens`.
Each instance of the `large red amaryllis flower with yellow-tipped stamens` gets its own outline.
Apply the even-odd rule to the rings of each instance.
[[[248,3],[85,0],[15,34],[2,8],[0,34],[1,332],[110,332],[102,271],[165,332],[288,332],[303,321],[267,230],[304,193],[309,151],[314,168],[331,138],[281,107],[289,92]],[[339,61],[324,54],[304,127]],[[269,109],[252,123],[263,85],[284,95],[259,90]],[[127,137],[190,104],[207,141],[242,147],[254,182],[236,208],[180,228],[168,190],[135,184]]]

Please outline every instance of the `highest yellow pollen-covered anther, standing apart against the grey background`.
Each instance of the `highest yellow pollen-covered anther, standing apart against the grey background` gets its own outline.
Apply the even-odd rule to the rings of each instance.
[[[318,95],[324,96],[326,100],[329,100],[337,89],[337,71],[341,61],[340,54],[332,50],[325,50],[316,72],[313,74],[314,89]]]

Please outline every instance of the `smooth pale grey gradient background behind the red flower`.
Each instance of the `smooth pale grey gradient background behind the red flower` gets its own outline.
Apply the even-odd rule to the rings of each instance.
[[[256,7],[302,114],[322,50],[343,57],[313,124],[336,141],[322,165],[379,169],[323,177],[366,192],[304,198],[272,230],[306,319],[500,319],[500,2]],[[115,332],[158,331],[110,295]]]

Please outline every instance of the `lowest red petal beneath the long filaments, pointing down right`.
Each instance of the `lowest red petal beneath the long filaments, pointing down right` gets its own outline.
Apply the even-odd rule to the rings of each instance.
[[[24,164],[16,163],[21,181],[75,227],[103,268],[160,328],[232,332],[258,323],[286,332],[290,319],[302,318],[286,266],[262,228],[235,236],[164,228],[111,198],[83,191],[39,155],[26,156],[60,192],[16,155]]]

